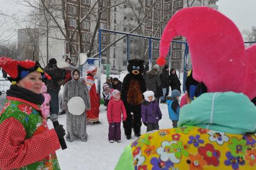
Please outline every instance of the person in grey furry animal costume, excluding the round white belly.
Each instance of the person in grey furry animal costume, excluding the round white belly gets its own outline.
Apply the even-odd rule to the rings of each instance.
[[[67,141],[87,141],[86,130],[87,111],[91,109],[89,90],[80,78],[80,71],[75,69],[71,73],[72,80],[66,83],[63,91],[62,109],[67,113]],[[67,103],[72,97],[81,97],[85,103],[85,111],[82,115],[73,115],[67,110]]]

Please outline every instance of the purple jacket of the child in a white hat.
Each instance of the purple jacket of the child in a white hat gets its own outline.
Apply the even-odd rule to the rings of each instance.
[[[141,119],[143,123],[158,123],[162,118],[157,99],[152,102],[144,100],[141,105]]]

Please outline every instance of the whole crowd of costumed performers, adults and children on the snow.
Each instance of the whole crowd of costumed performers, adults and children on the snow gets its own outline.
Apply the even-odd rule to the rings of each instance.
[[[217,39],[221,45],[233,40],[236,46],[218,49],[222,52],[218,59],[213,46],[206,46],[205,59],[206,55],[198,50],[205,41],[194,41],[195,36],[187,34],[192,30],[190,27],[196,29],[201,25],[194,20],[187,21],[192,22],[190,25],[180,23],[180,18],[191,16],[206,25],[206,32],[200,29],[201,39]],[[219,27],[222,24],[225,26]],[[223,29],[233,36],[221,39],[224,35],[216,33]],[[176,70],[169,71],[165,64],[171,40],[177,35],[187,35],[191,58],[196,63],[187,74],[187,91],[181,106],[180,80]],[[241,36],[236,26],[218,11],[186,8],[176,13],[163,31],[157,59],[157,64],[164,65],[162,72],[159,65],[144,72],[144,60],[130,59],[129,73],[123,82],[112,77],[106,79],[102,94],[109,142],[121,142],[121,121],[127,139],[132,138],[132,129],[138,137],[124,149],[115,169],[255,169],[256,46],[245,49]],[[230,59],[230,53],[234,59]],[[66,62],[71,64],[71,59]],[[86,142],[87,122],[101,124],[95,83],[97,67],[90,67],[82,78],[78,68],[64,70],[56,64],[52,58],[43,69],[35,61],[0,58],[0,67],[11,82],[0,112],[0,169],[60,169],[55,151],[63,147],[66,131],[67,141]],[[220,66],[226,69],[222,75],[217,71]],[[212,70],[207,76],[203,69],[206,67]],[[230,74],[237,67],[244,69]],[[237,81],[243,77],[244,81]],[[64,92],[59,103],[61,85]],[[173,128],[159,130],[159,103],[166,103],[162,106],[168,108]],[[47,117],[58,115],[60,104],[66,112],[67,129],[56,120],[52,120],[54,129],[48,129]],[[141,135],[142,123],[147,133]]]

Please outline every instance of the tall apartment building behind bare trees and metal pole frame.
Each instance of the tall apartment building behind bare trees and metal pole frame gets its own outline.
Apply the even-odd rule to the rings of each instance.
[[[89,11],[90,8],[94,5],[96,0],[80,0],[81,12],[80,17],[84,17]],[[134,29],[144,17],[144,14],[147,13],[145,20],[142,22],[141,26],[136,29],[133,34],[145,35],[149,37],[160,38],[162,31],[171,18],[171,16],[181,8],[187,7],[187,5],[192,4],[192,6],[204,5],[213,8],[217,8],[216,1],[218,0],[127,0],[123,4],[119,4],[115,7],[108,8],[108,10],[102,11],[100,17],[99,28],[111,29],[121,32],[130,32]],[[98,9],[105,9],[111,5],[120,3],[117,0],[106,0],[102,1],[102,4],[97,4],[97,8],[91,11],[91,14],[82,22],[82,46],[84,52],[88,52],[90,47],[90,41],[97,24],[97,18],[99,16]],[[154,3],[154,5],[153,5]],[[153,8],[151,8],[153,5]],[[78,17],[78,0],[66,0],[66,8],[69,11],[68,19],[68,29],[71,32],[76,28],[76,19]],[[59,22],[64,26],[64,22],[59,20]],[[56,58],[57,60],[63,60],[69,56],[70,46],[66,40],[63,39],[63,36],[60,34],[58,29],[53,29],[50,34],[55,35],[58,39],[49,38],[49,59]],[[51,37],[53,37],[53,35]],[[102,46],[103,49],[109,43],[121,37],[118,34],[108,34],[102,32]],[[42,38],[43,45],[41,46],[42,51],[46,51],[45,37]],[[176,37],[175,40],[184,40],[182,37]],[[98,33],[94,41],[93,49],[98,47]],[[76,50],[72,49],[72,61],[76,63],[79,50],[79,34],[75,33],[73,40],[73,46]],[[108,50],[102,53],[102,66],[106,67],[106,64],[111,65],[112,70],[126,70],[127,59],[132,58],[141,58],[145,59],[145,62],[148,62],[148,39],[136,38],[136,37],[125,37],[122,40],[115,43]],[[128,47],[128,48],[127,48]],[[129,51],[128,51],[129,49]],[[179,43],[172,43],[171,47],[171,66],[174,68],[180,68],[181,60],[183,57],[184,47]],[[76,52],[77,51],[77,52]],[[96,50],[94,53],[98,52]],[[153,62],[159,56],[159,41],[153,40],[152,42],[152,51],[151,59]],[[43,58],[46,58],[46,53],[43,52]]]

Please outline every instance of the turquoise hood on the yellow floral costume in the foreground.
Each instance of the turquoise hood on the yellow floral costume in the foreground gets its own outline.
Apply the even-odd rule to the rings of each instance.
[[[183,125],[231,134],[255,134],[256,107],[242,93],[204,93],[180,109],[178,127]]]

